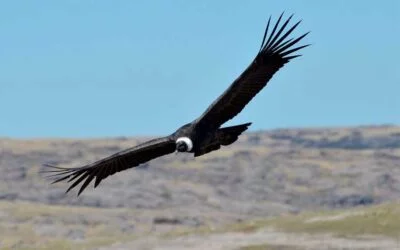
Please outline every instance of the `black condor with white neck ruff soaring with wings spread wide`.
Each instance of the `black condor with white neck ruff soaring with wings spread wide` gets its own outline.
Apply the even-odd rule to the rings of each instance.
[[[52,183],[71,183],[66,192],[82,183],[79,196],[91,181],[95,180],[96,188],[108,176],[157,157],[176,151],[192,153],[194,157],[198,157],[232,144],[251,123],[222,128],[221,125],[240,113],[283,65],[301,56],[294,54],[295,52],[309,46],[297,45],[308,32],[296,38],[288,38],[301,21],[287,28],[293,15],[286,21],[282,21],[282,16],[283,13],[273,27],[270,26],[271,17],[268,19],[260,50],[254,60],[193,122],[183,125],[168,136],[144,142],[82,167],[64,168],[44,164],[45,169],[42,172],[55,178]]]

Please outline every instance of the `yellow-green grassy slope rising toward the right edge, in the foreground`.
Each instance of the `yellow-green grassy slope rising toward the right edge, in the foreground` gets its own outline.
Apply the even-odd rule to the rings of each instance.
[[[337,211],[305,212],[298,215],[234,223],[221,228],[204,226],[195,230],[177,230],[163,236],[177,237],[188,234],[227,232],[253,233],[262,228],[274,228],[288,233],[328,233],[340,237],[381,235],[398,239],[400,237],[400,203]]]

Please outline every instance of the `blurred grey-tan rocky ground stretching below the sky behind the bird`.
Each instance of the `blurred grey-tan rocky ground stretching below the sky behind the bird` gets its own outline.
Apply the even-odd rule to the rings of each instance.
[[[146,139],[0,139],[0,249],[182,249],[184,242],[187,249],[196,249],[205,236],[160,235],[400,198],[398,126],[251,132],[202,157],[172,154],[116,174],[96,189],[88,187],[80,197],[73,191],[65,194],[65,183],[49,185],[39,174],[42,163],[80,166]],[[287,239],[296,242],[293,237],[315,242],[314,236],[289,235],[271,227],[252,236],[238,235],[242,233],[208,235],[211,242],[238,240],[208,248],[245,249],[245,239],[259,243],[248,249],[312,247],[300,240],[282,244]],[[291,248],[270,248],[257,237]],[[384,241],[388,248],[360,249],[389,249],[396,242],[390,239],[391,243]],[[127,241],[131,243],[115,243]],[[132,248],[132,242],[139,245]],[[327,249],[345,249],[336,247]]]

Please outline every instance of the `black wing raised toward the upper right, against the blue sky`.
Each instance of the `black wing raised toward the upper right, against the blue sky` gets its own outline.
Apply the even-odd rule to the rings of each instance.
[[[280,28],[279,17],[272,31],[268,35],[271,17],[264,33],[260,51],[248,68],[220,95],[208,109],[196,120],[198,126],[218,128],[226,121],[235,117],[251,101],[251,99],[264,88],[271,77],[287,62],[300,55],[294,52],[309,46],[294,47],[308,33],[297,38],[287,39],[292,31],[300,24],[297,22],[285,31],[290,16]],[[267,38],[268,35],[268,38]]]

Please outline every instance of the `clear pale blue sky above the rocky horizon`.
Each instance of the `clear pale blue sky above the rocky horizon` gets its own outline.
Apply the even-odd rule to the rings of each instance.
[[[228,124],[400,124],[400,1],[2,1],[0,136],[163,135],[248,66],[267,18],[311,31]]]

